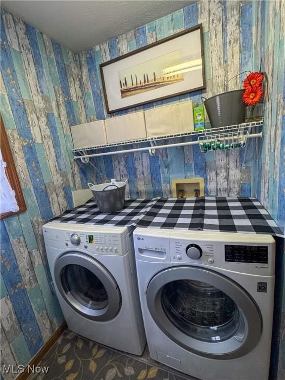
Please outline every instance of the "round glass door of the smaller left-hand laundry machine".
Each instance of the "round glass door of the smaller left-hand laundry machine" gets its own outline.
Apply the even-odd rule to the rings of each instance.
[[[55,263],[55,282],[65,301],[84,317],[110,320],[118,313],[121,294],[107,269],[83,252],[67,252]]]

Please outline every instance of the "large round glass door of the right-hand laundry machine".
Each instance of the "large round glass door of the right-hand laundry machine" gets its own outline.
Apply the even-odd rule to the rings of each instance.
[[[197,267],[164,270],[152,278],[146,297],[158,327],[201,356],[243,356],[260,339],[257,305],[241,286],[217,272]]]

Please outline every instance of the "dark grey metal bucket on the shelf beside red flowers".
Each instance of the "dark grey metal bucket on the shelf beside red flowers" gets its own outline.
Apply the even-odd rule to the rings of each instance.
[[[244,123],[244,90],[228,91],[206,99],[201,97],[212,128]]]

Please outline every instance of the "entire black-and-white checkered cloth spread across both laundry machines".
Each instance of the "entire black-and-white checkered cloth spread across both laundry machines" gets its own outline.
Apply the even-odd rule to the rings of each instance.
[[[101,213],[95,201],[90,200],[53,220],[100,226],[237,232],[284,237],[261,203],[255,198],[245,197],[129,199],[126,200],[124,209],[110,214]]]

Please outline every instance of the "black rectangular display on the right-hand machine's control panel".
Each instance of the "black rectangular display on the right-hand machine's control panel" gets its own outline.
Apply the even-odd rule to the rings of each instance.
[[[268,264],[266,245],[225,245],[225,261],[234,263]]]

